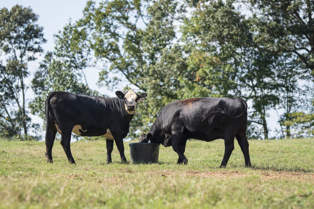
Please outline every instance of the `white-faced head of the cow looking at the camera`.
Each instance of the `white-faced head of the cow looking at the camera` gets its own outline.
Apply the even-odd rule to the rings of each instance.
[[[124,99],[125,110],[130,115],[135,113],[138,102],[142,101],[147,96],[146,93],[136,94],[134,90],[129,90],[125,94],[122,93],[122,91],[116,91],[115,94],[117,97]]]

